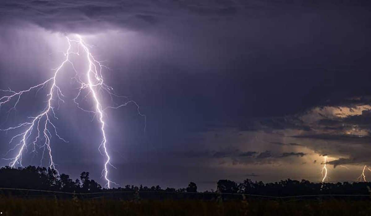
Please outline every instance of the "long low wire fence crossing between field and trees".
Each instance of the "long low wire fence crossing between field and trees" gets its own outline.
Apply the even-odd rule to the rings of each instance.
[[[300,196],[265,196],[245,193],[212,193],[212,192],[166,192],[166,191],[106,191],[94,193],[73,193],[51,190],[19,189],[0,187],[0,196],[22,198],[57,198],[57,199],[120,199],[120,200],[245,200],[245,199],[275,199],[275,200],[302,200],[302,199],[370,199],[371,195],[341,195],[319,194]]]

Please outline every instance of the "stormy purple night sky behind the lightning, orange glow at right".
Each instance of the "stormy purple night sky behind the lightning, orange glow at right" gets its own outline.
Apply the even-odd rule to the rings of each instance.
[[[116,167],[109,176],[119,185],[193,181],[206,190],[219,179],[319,182],[324,155],[328,181],[354,181],[371,166],[370,6],[351,0],[3,0],[0,89],[21,91],[48,79],[63,61],[64,36],[80,34],[109,67],[105,82],[147,117],[144,122],[134,104],[104,116]],[[65,103],[55,124],[69,142],[53,137],[56,168],[73,178],[88,171],[104,185],[99,122],[72,101],[72,67],[63,73]],[[27,94],[9,113],[2,107],[1,128],[40,112],[46,94]],[[8,144],[12,136],[0,132],[1,157],[16,155],[18,147],[7,153],[16,144]],[[27,149],[23,166],[40,165],[41,154]]]

